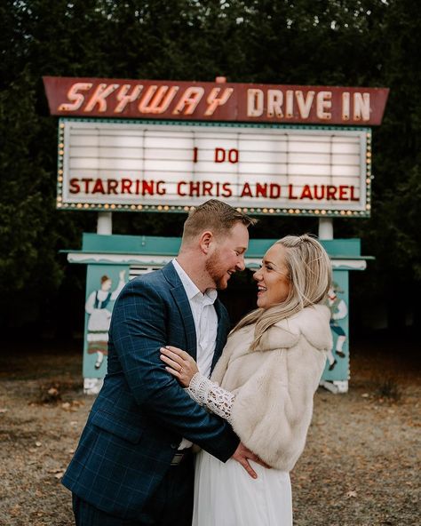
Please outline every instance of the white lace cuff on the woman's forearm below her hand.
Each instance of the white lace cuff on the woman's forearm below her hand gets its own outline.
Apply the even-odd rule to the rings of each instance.
[[[218,384],[211,382],[210,379],[202,376],[200,372],[196,372],[186,390],[188,395],[197,403],[204,405],[212,413],[231,423],[231,408],[233,407],[235,395],[219,387]]]

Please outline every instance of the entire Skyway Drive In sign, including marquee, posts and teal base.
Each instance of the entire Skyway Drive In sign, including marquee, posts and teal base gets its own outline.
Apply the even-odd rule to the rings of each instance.
[[[88,265],[85,393],[98,393],[107,371],[113,299],[127,279],[163,267],[178,251],[179,240],[168,237],[111,235],[110,212],[185,212],[218,198],[253,215],[369,216],[371,128],[381,124],[387,89],[223,78],[44,77],[44,86],[50,112],[59,116],[57,207],[107,212],[99,213],[98,234],[83,235],[83,250],[68,255]],[[328,232],[331,219],[320,225]],[[254,242],[249,268],[266,250],[260,242],[273,240]],[[366,261],[360,240],[323,243],[334,271],[334,346],[322,382],[345,392],[348,272]],[[107,306],[94,305],[99,295],[107,296]]]

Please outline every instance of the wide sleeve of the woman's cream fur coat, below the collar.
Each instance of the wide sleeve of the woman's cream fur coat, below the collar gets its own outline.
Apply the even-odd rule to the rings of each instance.
[[[270,351],[237,393],[234,432],[269,466],[290,471],[303,451],[325,361],[301,337],[294,347]]]

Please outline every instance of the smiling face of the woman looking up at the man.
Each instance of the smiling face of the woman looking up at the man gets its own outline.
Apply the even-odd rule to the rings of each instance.
[[[288,298],[290,279],[282,244],[271,246],[253,277],[258,282],[258,307],[274,307]]]

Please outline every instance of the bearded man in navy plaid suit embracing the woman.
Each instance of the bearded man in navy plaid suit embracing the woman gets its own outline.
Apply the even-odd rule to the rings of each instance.
[[[244,269],[254,222],[226,203],[203,203],[186,220],[178,258],[116,300],[107,376],[63,478],[77,526],[189,526],[192,442],[253,475],[248,458],[258,458],[165,371],[160,348],[186,349],[211,373],[229,329],[215,289]]]

